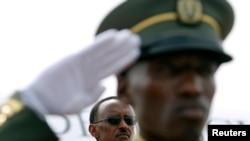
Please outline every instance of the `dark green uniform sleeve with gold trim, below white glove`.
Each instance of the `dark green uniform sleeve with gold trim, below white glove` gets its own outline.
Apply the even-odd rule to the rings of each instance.
[[[8,104],[0,106],[0,141],[58,141],[47,122],[30,108],[23,106],[18,112],[9,111]]]

